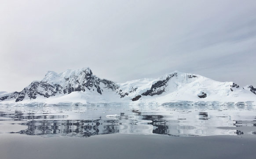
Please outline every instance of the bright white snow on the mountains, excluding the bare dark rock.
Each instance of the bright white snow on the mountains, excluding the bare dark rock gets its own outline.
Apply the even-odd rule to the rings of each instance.
[[[47,81],[49,84],[59,84],[64,87],[65,78],[69,78],[71,75],[76,75],[76,80],[84,79],[85,74],[81,74],[81,71],[90,72],[91,70],[89,67],[85,67],[76,71],[67,70],[60,74],[54,71],[48,71],[42,81]],[[172,74],[176,75],[172,77]],[[143,92],[149,90],[157,81],[165,80],[167,77],[170,77],[170,80],[166,84],[167,86],[154,90],[157,91],[164,88],[165,92],[161,95],[141,95]],[[232,81],[219,82],[198,74],[187,74],[179,71],[165,74],[157,79],[143,78],[127,81],[125,83],[117,83],[117,85],[120,86],[119,89],[121,89],[122,92],[127,92],[129,95],[121,98],[117,93],[119,90],[112,91],[101,85],[103,89],[102,95],[97,91],[88,90],[86,88],[85,92],[57,94],[50,98],[44,98],[39,95],[37,99],[31,100],[26,97],[20,102],[15,102],[13,99],[4,100],[0,102],[0,105],[46,106],[89,105],[93,103],[121,103],[125,105],[256,105],[256,95],[250,92],[247,87],[244,87],[244,89],[240,86],[239,88],[232,88],[233,91],[231,91],[230,85],[233,85]],[[199,98],[197,96],[202,92],[207,94],[206,98]],[[6,92],[0,92],[0,97],[4,95],[6,95]],[[131,99],[137,95],[141,95],[142,97],[137,101],[132,101]]]

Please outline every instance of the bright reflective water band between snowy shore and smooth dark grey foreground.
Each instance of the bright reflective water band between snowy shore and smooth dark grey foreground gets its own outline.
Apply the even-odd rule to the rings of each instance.
[[[255,135],[256,107],[3,106],[0,107],[0,133],[44,137],[114,133],[177,137]]]

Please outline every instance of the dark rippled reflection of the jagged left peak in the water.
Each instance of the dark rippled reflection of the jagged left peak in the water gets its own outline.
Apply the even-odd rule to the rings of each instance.
[[[119,132],[118,120],[31,120],[22,125],[28,128],[18,133],[28,135],[55,134],[89,137]]]

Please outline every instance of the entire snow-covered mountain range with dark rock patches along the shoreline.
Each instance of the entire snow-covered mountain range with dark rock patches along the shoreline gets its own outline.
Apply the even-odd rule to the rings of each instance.
[[[21,92],[0,92],[0,105],[256,105],[256,88],[219,82],[179,71],[157,79],[116,83],[95,76],[89,67],[60,74],[48,71]]]

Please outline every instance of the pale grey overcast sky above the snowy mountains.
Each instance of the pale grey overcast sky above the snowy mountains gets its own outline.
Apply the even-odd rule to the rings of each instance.
[[[0,91],[90,67],[124,82],[175,70],[256,86],[256,0],[0,0]]]

